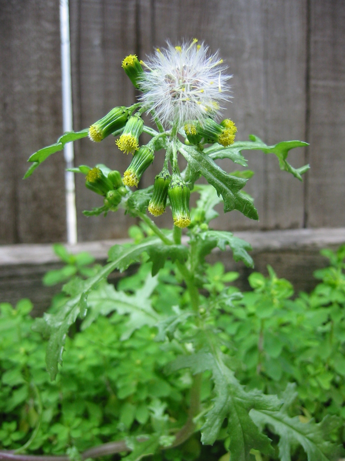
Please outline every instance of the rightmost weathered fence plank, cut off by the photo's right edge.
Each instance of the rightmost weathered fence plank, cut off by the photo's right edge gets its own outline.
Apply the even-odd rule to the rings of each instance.
[[[311,2],[308,227],[345,223],[345,3]]]

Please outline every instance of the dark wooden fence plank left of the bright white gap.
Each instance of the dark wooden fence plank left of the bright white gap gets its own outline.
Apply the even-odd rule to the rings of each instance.
[[[63,154],[22,177],[61,134],[59,5],[0,1],[0,242],[65,238]]]

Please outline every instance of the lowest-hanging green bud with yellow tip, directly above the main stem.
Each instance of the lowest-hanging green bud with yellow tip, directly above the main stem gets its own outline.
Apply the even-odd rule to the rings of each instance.
[[[173,213],[174,225],[177,227],[189,226],[190,189],[178,173],[173,173],[168,189],[168,196]]]

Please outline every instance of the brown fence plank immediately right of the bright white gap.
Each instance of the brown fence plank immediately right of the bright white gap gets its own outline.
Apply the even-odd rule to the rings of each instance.
[[[121,68],[121,60],[135,53],[135,1],[70,1],[74,126],[82,129],[112,107],[134,102],[134,88]],[[75,146],[75,165],[104,163],[125,171],[129,156],[115,146],[112,136],[100,143],[87,138]],[[76,176],[78,239],[97,240],[126,236],[133,219],[119,211],[86,218],[83,210],[102,205],[102,197],[85,188]]]

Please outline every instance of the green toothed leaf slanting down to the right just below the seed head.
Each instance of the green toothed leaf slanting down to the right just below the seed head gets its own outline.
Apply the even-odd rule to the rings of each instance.
[[[238,210],[247,218],[259,219],[258,212],[253,203],[248,200],[240,190],[246,185],[247,179],[228,175],[222,170],[209,155],[197,151],[190,146],[178,142],[178,150],[187,160],[192,172],[201,174],[207,182],[222,195],[224,213]]]

